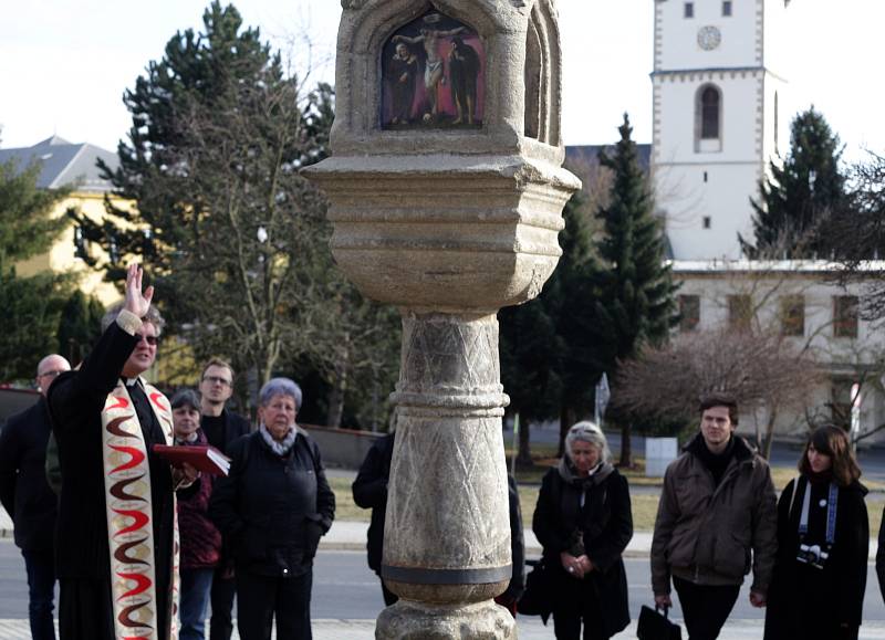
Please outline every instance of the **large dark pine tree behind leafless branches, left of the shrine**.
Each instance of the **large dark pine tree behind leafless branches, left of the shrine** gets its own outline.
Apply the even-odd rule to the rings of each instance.
[[[299,174],[327,154],[333,99],[215,1],[202,32],[171,38],[125,95],[133,126],[106,172],[136,206],[80,223],[111,255],[97,265],[110,277],[143,258],[198,359],[223,355],[259,385],[310,361],[337,394],[339,422],[348,380],[377,369],[368,354],[396,368],[387,344],[399,328],[334,267],[325,197]]]

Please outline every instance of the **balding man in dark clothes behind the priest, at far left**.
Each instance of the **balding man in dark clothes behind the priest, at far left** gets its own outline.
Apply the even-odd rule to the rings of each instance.
[[[0,502],[12,517],[15,545],[28,571],[28,617],[31,638],[54,640],[52,623],[55,590],[55,494],[46,483],[46,442],[52,427],[46,392],[59,374],[70,371],[62,356],[46,356],[37,366],[40,399],[12,416],[0,432]]]

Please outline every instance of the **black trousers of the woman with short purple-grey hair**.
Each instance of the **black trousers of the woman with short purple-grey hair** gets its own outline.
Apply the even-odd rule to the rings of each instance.
[[[313,571],[293,578],[237,570],[237,629],[241,640],[311,640]]]

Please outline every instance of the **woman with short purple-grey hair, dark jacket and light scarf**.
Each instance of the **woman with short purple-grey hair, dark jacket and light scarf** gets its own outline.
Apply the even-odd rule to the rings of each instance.
[[[301,389],[273,378],[259,392],[259,429],[229,450],[230,475],[210,515],[231,541],[242,640],[310,640],[313,557],[332,526],[335,494],[320,449],[295,424]]]

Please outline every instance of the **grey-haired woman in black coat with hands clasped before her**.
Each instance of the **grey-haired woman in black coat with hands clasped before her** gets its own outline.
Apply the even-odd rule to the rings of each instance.
[[[544,475],[532,529],[544,548],[559,640],[607,639],[629,625],[621,554],[633,537],[627,480],[608,462],[605,436],[579,422]]]

